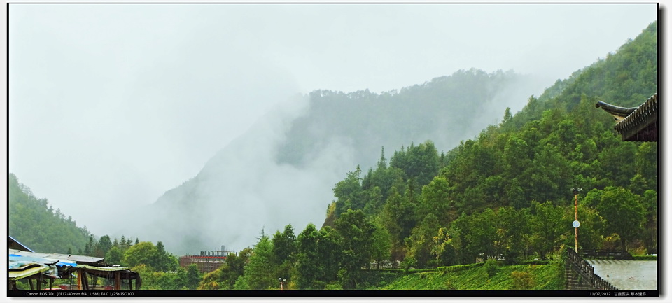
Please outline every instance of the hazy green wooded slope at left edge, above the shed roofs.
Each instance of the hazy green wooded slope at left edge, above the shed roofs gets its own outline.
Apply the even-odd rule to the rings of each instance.
[[[71,216],[54,210],[47,199],[38,199],[27,186],[9,174],[9,235],[33,251],[83,252],[91,234]]]

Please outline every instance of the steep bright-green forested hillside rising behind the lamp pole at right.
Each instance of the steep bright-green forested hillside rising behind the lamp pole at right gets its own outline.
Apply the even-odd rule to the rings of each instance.
[[[566,84],[556,97],[531,97],[521,113],[507,111],[447,155],[427,141],[389,163],[381,155],[365,174],[353,170],[334,188],[327,223],[361,209],[390,232],[393,258],[419,266],[545,258],[573,244],[571,188],[583,188],[582,248],[657,252],[657,143],[620,141],[611,116],[594,107],[634,106],[657,92],[656,33],[654,23],[556,83]]]

